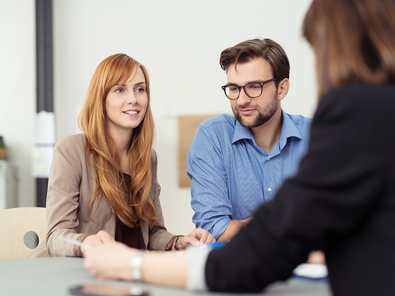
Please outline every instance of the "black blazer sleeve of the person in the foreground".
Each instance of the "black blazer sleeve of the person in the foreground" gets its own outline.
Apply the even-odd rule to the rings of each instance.
[[[378,133],[386,119],[366,103],[377,94],[364,96],[351,89],[321,100],[298,174],[229,244],[208,256],[211,290],[260,291],[285,280],[309,251],[329,250],[374,215],[388,183]]]

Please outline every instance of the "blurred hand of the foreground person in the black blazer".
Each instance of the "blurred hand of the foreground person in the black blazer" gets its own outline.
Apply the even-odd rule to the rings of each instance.
[[[106,279],[132,280],[129,262],[137,254],[137,249],[111,240],[82,252],[85,257],[83,266],[93,275]]]

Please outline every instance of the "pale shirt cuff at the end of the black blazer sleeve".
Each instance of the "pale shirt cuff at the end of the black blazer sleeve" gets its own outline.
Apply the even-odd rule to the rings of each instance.
[[[207,291],[205,267],[207,257],[213,249],[207,246],[187,248],[187,289]]]

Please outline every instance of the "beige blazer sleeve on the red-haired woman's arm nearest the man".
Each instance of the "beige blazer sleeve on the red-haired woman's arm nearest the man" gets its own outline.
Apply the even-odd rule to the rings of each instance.
[[[158,170],[158,157],[155,150],[152,150],[152,187],[151,187],[151,196],[152,201],[155,207],[155,211],[157,213],[157,217],[159,218],[157,222],[155,222],[154,226],[150,227],[148,230],[148,250],[157,250],[164,251],[166,245],[169,241],[174,237],[173,234],[167,232],[166,227],[164,226],[164,219],[162,215],[162,208],[160,206],[159,201],[159,193],[160,193],[160,185],[158,184],[157,177]]]

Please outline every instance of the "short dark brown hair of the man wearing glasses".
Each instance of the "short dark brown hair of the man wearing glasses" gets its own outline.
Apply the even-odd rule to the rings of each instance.
[[[282,79],[289,78],[289,61],[284,49],[268,38],[246,40],[224,49],[219,64],[223,70],[228,71],[232,64],[237,66],[237,63],[246,63],[258,58],[264,58],[272,67],[273,78],[277,78],[276,86]]]

